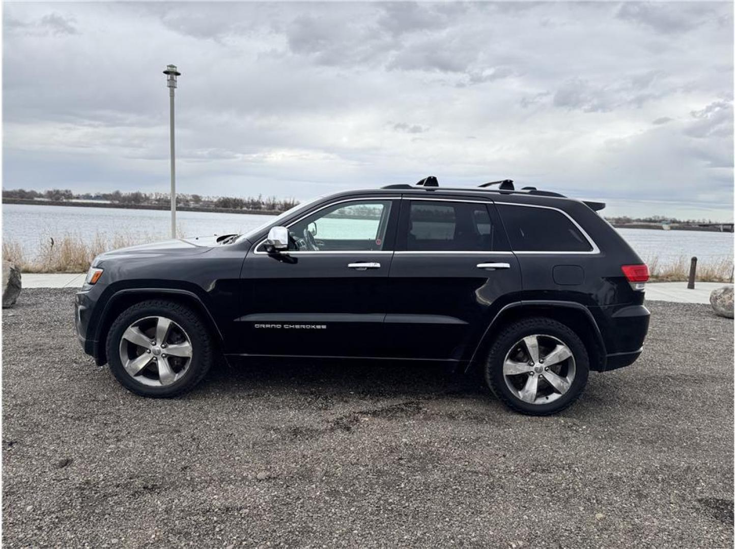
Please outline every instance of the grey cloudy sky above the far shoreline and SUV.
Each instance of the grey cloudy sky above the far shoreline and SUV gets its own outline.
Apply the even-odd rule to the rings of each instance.
[[[512,178],[732,219],[733,6],[4,4],[3,186],[304,200]]]

